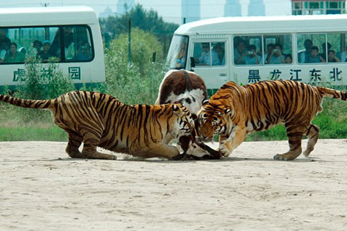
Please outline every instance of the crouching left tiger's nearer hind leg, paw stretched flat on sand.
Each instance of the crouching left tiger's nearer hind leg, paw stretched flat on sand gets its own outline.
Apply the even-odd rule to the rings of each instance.
[[[96,150],[102,132],[82,129],[81,133],[83,134],[83,149],[82,149],[82,158],[88,159],[103,159],[103,160],[116,160],[117,157],[114,155],[100,153]]]

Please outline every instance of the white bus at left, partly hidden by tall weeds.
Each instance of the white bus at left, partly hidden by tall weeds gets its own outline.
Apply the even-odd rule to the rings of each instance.
[[[33,54],[58,60],[78,88],[105,81],[104,50],[98,18],[86,6],[0,8],[0,86],[14,88]]]

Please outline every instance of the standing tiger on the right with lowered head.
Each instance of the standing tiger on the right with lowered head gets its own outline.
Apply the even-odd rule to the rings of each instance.
[[[303,135],[308,138],[303,152],[307,157],[319,136],[320,128],[312,120],[323,110],[323,97],[346,101],[347,93],[290,80],[260,81],[244,86],[230,81],[203,102],[198,114],[199,133],[203,139],[219,134],[219,151],[229,156],[248,133],[284,124],[289,151],[275,155],[274,159],[288,161],[298,157]]]

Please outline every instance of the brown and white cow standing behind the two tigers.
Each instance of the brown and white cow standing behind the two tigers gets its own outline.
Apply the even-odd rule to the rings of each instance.
[[[193,119],[196,119],[202,101],[206,99],[206,85],[199,75],[184,69],[169,70],[160,84],[155,104],[180,102],[188,108]]]

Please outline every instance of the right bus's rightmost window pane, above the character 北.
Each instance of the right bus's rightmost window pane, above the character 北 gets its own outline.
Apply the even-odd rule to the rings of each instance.
[[[346,33],[327,33],[328,62],[346,62]]]

